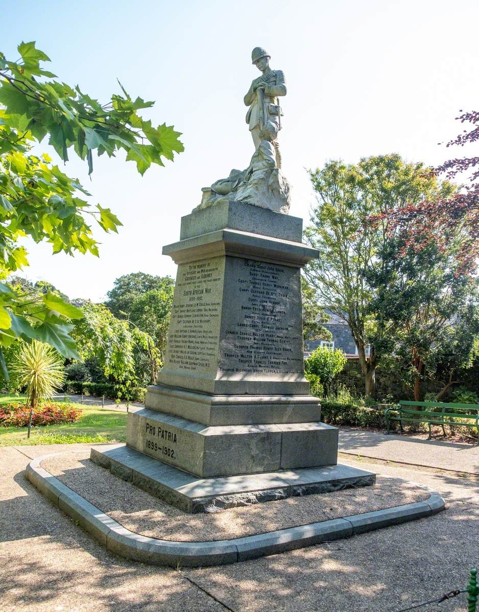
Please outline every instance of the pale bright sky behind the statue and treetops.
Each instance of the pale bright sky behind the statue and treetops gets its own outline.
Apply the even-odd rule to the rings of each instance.
[[[305,168],[390,152],[442,162],[452,152],[437,143],[461,130],[460,108],[479,103],[477,0],[0,0],[0,9],[7,57],[36,40],[66,83],[105,101],[118,77],[130,94],[156,100],[154,123],[183,132],[185,152],[143,178],[122,157],[95,159],[91,182],[83,163],[67,164],[92,203],[124,224],[118,235],[98,233],[100,259],[28,243],[25,275],[70,297],[102,299],[129,272],[175,275],[161,249],[179,238],[181,215],[202,187],[251,158],[243,96],[258,75],[255,46],[285,72],[283,170],[290,214],[305,222],[314,203]]]

